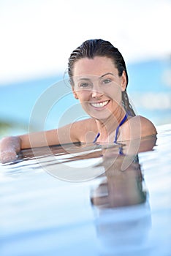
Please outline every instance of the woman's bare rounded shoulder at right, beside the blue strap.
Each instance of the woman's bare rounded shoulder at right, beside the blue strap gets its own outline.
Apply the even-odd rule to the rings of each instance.
[[[143,116],[129,118],[121,129],[122,140],[145,138],[156,134],[156,127],[148,118]]]

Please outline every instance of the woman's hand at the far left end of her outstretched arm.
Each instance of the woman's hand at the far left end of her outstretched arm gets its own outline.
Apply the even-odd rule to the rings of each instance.
[[[15,161],[20,151],[19,137],[6,137],[0,141],[0,161],[2,164]]]

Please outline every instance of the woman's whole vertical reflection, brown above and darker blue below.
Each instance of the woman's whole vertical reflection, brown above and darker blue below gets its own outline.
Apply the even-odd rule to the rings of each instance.
[[[102,255],[144,255],[151,211],[138,156],[127,156],[130,164],[122,170],[126,156],[111,161],[109,154],[102,162],[105,173],[91,192],[99,250]]]

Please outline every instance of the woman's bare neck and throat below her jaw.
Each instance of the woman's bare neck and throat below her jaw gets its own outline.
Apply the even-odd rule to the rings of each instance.
[[[101,142],[112,142],[115,129],[121,123],[126,112],[123,108],[117,108],[115,113],[113,113],[109,118],[103,120],[96,119],[97,129],[100,134]]]

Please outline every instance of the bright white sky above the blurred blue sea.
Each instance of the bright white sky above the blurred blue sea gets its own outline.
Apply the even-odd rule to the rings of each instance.
[[[63,74],[86,39],[129,63],[169,56],[170,14],[170,0],[0,0],[0,85]]]

